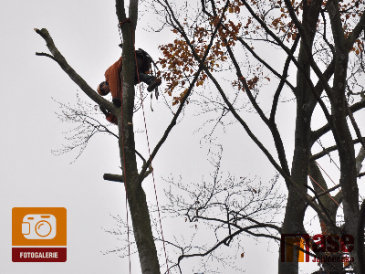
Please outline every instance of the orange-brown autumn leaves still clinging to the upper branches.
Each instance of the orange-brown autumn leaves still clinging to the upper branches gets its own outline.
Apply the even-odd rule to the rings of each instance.
[[[287,43],[293,43],[297,37],[297,27],[294,25],[283,1],[281,0],[267,0],[264,5],[262,1],[246,0],[248,5],[252,6],[257,11],[259,16],[277,37],[280,37]],[[292,5],[300,17],[303,9],[303,1],[292,0]],[[362,15],[364,0],[361,1],[339,1],[339,10],[342,12],[342,22],[344,26],[345,36],[349,35],[351,31],[351,18],[360,17]],[[188,90],[194,74],[199,68],[199,62],[193,55],[203,58],[208,44],[211,42],[211,36],[214,33],[214,28],[218,25],[220,16],[224,11],[226,0],[214,1],[214,14],[202,15],[205,18],[205,23],[194,22],[188,23],[185,18],[182,28],[172,29],[172,32],[177,36],[176,39],[167,45],[160,46],[163,57],[159,59],[159,64],[162,66],[162,71],[159,72],[159,77],[162,77],[166,82],[165,92],[172,96],[172,104],[178,104],[183,100],[183,96]],[[308,0],[307,5],[310,5]],[[323,3],[325,9],[326,1]],[[361,7],[362,6],[362,7]],[[227,60],[227,52],[225,47],[235,47],[239,39],[264,39],[262,26],[256,20],[245,12],[243,0],[230,1],[229,5],[225,7],[222,24],[219,26],[217,35],[214,37],[214,43],[210,49],[209,55],[204,61],[206,68],[211,72],[220,71],[224,67],[224,62]],[[267,16],[264,10],[275,10],[274,15]],[[279,12],[278,12],[279,11]],[[244,15],[244,16],[243,16]],[[242,17],[241,17],[242,16]],[[323,22],[318,21],[318,27]],[[352,47],[356,55],[362,54],[364,50],[363,41],[358,39]],[[260,69],[253,69],[260,70]],[[251,75],[251,79],[245,79],[249,89],[255,89],[260,81],[270,80],[262,72],[260,74]],[[195,81],[195,86],[203,86],[207,75],[201,72],[199,78]],[[245,90],[242,79],[235,79],[231,82],[232,87],[238,90]]]

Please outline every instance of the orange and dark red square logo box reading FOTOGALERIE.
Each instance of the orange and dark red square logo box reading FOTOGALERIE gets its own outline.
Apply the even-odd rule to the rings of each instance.
[[[13,261],[66,261],[66,208],[14,207],[12,232]]]

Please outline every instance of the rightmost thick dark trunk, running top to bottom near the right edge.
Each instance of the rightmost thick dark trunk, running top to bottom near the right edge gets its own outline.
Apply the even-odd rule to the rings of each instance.
[[[326,7],[331,23],[335,44],[335,72],[333,88],[328,92],[331,103],[331,130],[339,151],[341,190],[343,194],[344,232],[357,240],[359,221],[359,188],[357,184],[355,149],[347,121],[346,85],[349,67],[349,47],[347,46],[337,0],[328,1]],[[355,258],[353,269],[359,273],[358,248],[354,246],[351,256]]]

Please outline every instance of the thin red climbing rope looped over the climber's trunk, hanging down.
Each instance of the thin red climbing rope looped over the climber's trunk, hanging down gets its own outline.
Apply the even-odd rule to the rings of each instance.
[[[121,25],[123,25],[124,23],[131,23],[130,22],[130,18],[125,19],[124,21],[120,22],[119,26],[119,31],[120,31],[120,27]],[[149,140],[149,136],[148,136],[148,131],[147,131],[147,122],[146,122],[146,115],[145,115],[145,111],[144,111],[144,104],[143,104],[143,96],[142,96],[142,91],[141,91],[141,80],[140,80],[140,74],[138,72],[138,64],[137,64],[137,54],[136,54],[136,47],[134,44],[134,36],[133,36],[133,28],[130,24],[130,32],[131,32],[131,36],[132,36],[132,40],[133,40],[133,50],[134,50],[134,60],[136,62],[136,69],[137,69],[137,78],[138,78],[138,83],[139,83],[139,87],[140,87],[140,94],[141,94],[141,106],[142,106],[142,113],[143,113],[143,121],[144,121],[144,129],[146,131],[146,139],[147,139],[147,146],[148,146],[148,151],[149,151],[149,155],[150,155],[150,163],[151,163],[151,170],[152,170],[152,181],[153,181],[153,187],[154,187],[154,194],[155,194],[155,198],[156,198],[156,205],[157,205],[157,212],[159,215],[159,222],[160,222],[160,229],[161,229],[161,234],[162,234],[162,244],[163,244],[163,251],[165,254],[165,259],[166,259],[166,268],[167,268],[167,273],[170,273],[169,270],[169,264],[168,264],[168,259],[167,259],[167,252],[166,252],[166,246],[165,246],[165,240],[163,237],[163,229],[162,229],[162,220],[161,220],[161,211],[160,211],[160,205],[159,205],[159,200],[158,200],[158,195],[157,195],[157,188],[156,188],[156,182],[155,182],[155,178],[154,178],[154,172],[153,172],[153,167],[152,167],[152,158],[151,158],[151,149],[150,149],[150,140]],[[122,42],[122,38],[120,35],[120,41]],[[122,93],[122,92],[121,92]],[[123,132],[123,131],[122,131]],[[123,138],[123,137],[122,137]],[[123,138],[124,140],[124,138]],[[123,145],[123,158],[124,158],[124,142],[122,143]],[[124,165],[125,165],[125,161],[123,159]],[[125,170],[125,168],[124,168]],[[124,173],[125,174],[125,173]],[[127,189],[126,189],[127,191]]]

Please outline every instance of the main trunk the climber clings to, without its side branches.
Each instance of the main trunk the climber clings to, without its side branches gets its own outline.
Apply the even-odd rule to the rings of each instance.
[[[123,36],[123,69],[122,69],[122,115],[119,118],[120,129],[120,163],[123,167],[130,216],[133,233],[140,257],[141,272],[143,274],[160,274],[159,259],[154,243],[150,213],[146,195],[138,180],[138,169],[135,154],[133,132],[133,107],[134,107],[134,28],[138,13],[138,1],[132,1],[130,5],[130,19],[126,20],[124,1],[116,1],[117,15],[121,25]],[[122,121],[121,121],[122,120]],[[127,271],[123,271],[127,272]]]

